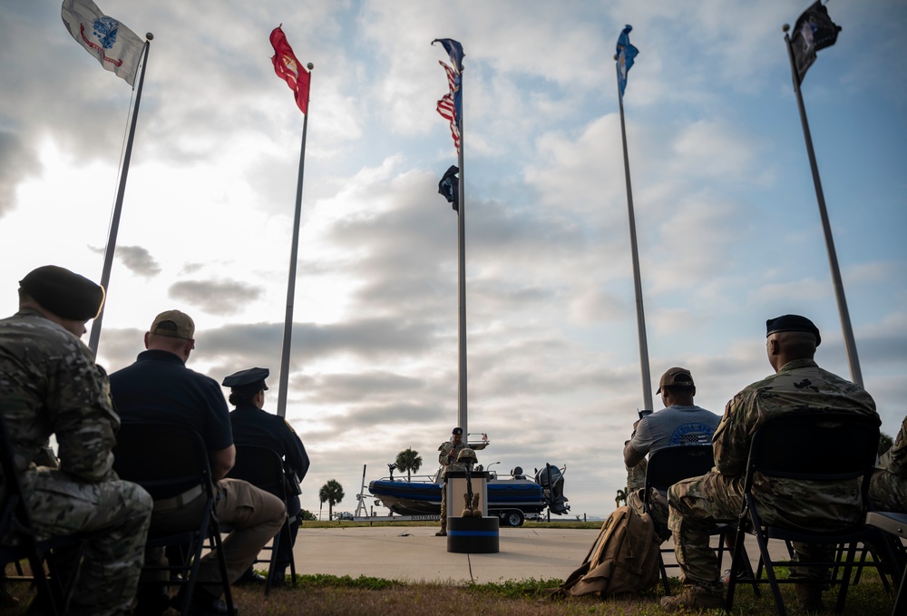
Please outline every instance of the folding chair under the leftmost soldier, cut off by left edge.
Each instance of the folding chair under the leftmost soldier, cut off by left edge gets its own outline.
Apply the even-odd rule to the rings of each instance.
[[[61,535],[41,541],[35,536],[32,528],[31,517],[25,508],[22,481],[15,467],[15,452],[6,432],[5,419],[0,413],[0,464],[3,468],[3,495],[5,496],[0,507],[0,540],[12,537],[9,544],[0,544],[0,566],[7,562],[15,562],[21,573],[19,561],[28,559],[32,569],[30,578],[7,578],[7,580],[27,580],[34,582],[37,590],[37,601],[45,614],[64,614],[69,610],[69,603],[73,598],[75,584],[79,579],[79,571],[85,554],[87,540],[80,535]],[[54,566],[54,550],[74,550],[75,558],[72,571],[68,572],[67,579],[63,582],[62,572]],[[47,561],[50,575],[44,572],[44,561]]]

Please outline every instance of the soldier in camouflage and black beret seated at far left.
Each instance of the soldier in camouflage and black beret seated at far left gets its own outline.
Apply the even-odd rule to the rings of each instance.
[[[106,374],[79,339],[101,309],[103,288],[55,266],[34,269],[19,285],[19,311],[0,320],[0,412],[25,506],[39,539],[89,539],[67,613],[129,613],[151,496],[112,471],[120,418]],[[48,455],[52,434],[59,464]],[[64,572],[75,564],[73,554],[56,555]]]

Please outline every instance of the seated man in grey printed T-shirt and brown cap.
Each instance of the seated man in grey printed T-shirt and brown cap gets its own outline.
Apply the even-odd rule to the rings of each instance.
[[[709,445],[721,417],[693,404],[696,385],[687,368],[672,367],[661,376],[656,394],[661,394],[665,408],[644,416],[633,424],[633,434],[624,447],[624,464],[628,470],[627,504],[643,513],[646,481],[646,455],[665,447]],[[662,528],[668,524],[668,495],[652,488],[649,513]],[[669,532],[662,539],[668,539]]]

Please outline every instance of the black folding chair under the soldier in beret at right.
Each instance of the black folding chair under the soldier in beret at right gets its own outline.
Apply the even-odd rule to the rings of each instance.
[[[744,480],[744,509],[740,513],[736,534],[736,547],[743,545],[744,533],[756,535],[759,546],[759,566],[756,576],[750,579],[737,579],[731,576],[727,587],[727,610],[734,603],[736,582],[768,584],[775,596],[777,611],[781,616],[787,613],[781,597],[779,584],[796,583],[797,580],[779,580],[775,575],[775,566],[790,566],[772,560],[768,551],[768,540],[779,539],[789,543],[825,543],[831,545],[846,544],[847,554],[844,561],[844,575],[841,580],[836,576],[829,583],[840,584],[837,610],[844,609],[844,600],[853,569],[853,555],[857,543],[879,542],[880,532],[865,524],[863,516],[857,523],[837,531],[805,531],[767,524],[758,512],[758,501],[753,494],[756,474],[768,478],[787,478],[804,482],[846,482],[859,484],[863,494],[863,506],[870,503],[868,496],[869,478],[873,472],[875,456],[879,444],[879,420],[875,416],[863,416],[854,413],[816,412],[786,413],[768,419],[756,429],[749,449]],[[731,569],[736,565],[743,552],[735,549]],[[893,558],[890,554],[885,560]],[[797,567],[834,568],[838,563],[796,562]],[[864,562],[863,566],[874,566],[880,574],[886,563]],[[766,578],[761,578],[765,567]]]

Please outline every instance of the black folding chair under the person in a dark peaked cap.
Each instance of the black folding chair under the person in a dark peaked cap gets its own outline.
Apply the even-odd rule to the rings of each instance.
[[[249,482],[270,494],[274,494],[285,504],[287,503],[287,484],[284,483],[283,460],[280,455],[269,447],[258,445],[239,445],[236,444],[236,462],[230,469],[228,477],[232,479],[242,479]],[[287,542],[292,545],[293,538],[289,530],[289,517],[280,527],[280,530],[274,535],[274,540],[270,546],[265,546],[263,550],[271,552],[270,558],[265,561],[256,559],[255,562],[268,562],[268,579],[265,582],[265,595],[267,596],[274,583],[274,577],[277,574],[278,565],[278,548],[281,542]],[[253,562],[253,564],[255,564]],[[292,584],[296,585],[296,561],[293,558],[293,551],[289,552],[289,570]]]

